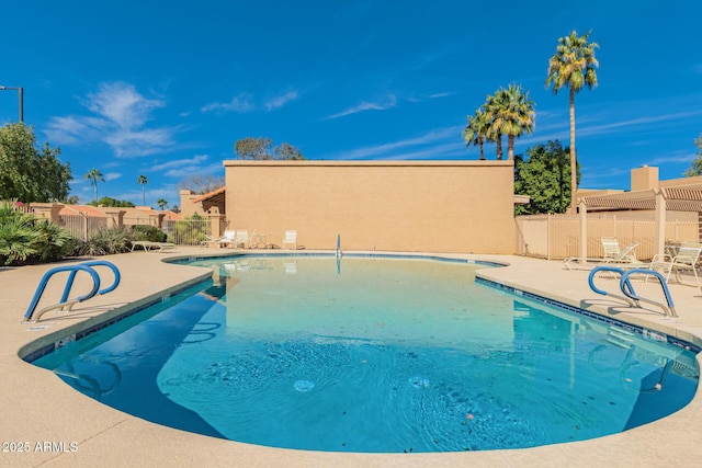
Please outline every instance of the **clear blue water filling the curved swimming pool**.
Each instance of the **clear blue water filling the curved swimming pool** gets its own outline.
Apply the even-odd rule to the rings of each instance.
[[[681,409],[698,385],[690,351],[476,284],[485,266],[196,264],[213,279],[34,363],[160,424],[333,452],[598,437]]]

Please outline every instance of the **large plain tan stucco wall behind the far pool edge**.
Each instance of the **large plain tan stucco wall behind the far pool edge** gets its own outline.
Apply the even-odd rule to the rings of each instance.
[[[513,253],[511,161],[225,161],[229,229],[306,249]]]

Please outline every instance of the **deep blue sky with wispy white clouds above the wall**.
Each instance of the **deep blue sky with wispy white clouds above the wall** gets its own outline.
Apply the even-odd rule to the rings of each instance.
[[[2,7],[0,85],[70,162],[71,194],[178,204],[179,182],[219,176],[234,144],[270,137],[307,159],[478,159],[461,138],[487,94],[521,84],[536,127],[516,152],[568,145],[568,94],[545,89],[558,37],[600,45],[599,87],[576,96],[581,186],[630,170],[678,178],[702,133],[699,1],[24,0]],[[18,95],[0,91],[0,123]],[[506,144],[506,141],[505,141]],[[495,159],[495,146],[486,148]]]

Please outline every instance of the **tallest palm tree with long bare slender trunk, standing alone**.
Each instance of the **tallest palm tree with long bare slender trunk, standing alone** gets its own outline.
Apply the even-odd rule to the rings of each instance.
[[[570,35],[561,37],[556,46],[556,53],[548,59],[548,76],[546,88],[553,85],[553,93],[557,94],[561,88],[568,87],[570,91],[570,213],[575,213],[575,194],[578,189],[576,179],[576,151],[575,151],[575,93],[582,87],[588,89],[597,87],[596,67],[599,62],[595,58],[597,43],[588,43],[592,31],[578,37],[573,31]]]

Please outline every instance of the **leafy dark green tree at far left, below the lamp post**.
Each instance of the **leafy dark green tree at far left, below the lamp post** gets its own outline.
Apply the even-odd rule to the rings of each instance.
[[[23,123],[0,127],[0,199],[65,201],[72,179],[59,148],[36,148],[34,127]]]

